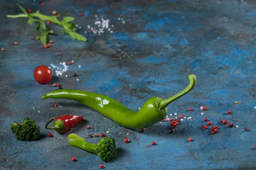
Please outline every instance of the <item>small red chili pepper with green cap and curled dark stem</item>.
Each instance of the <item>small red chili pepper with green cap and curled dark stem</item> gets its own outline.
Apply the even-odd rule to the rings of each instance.
[[[49,120],[45,128],[46,129],[54,129],[58,133],[65,133],[67,130],[70,130],[72,127],[74,127],[76,124],[78,124],[84,117],[83,116],[73,116],[73,115],[62,115],[55,119],[53,117],[51,120]],[[53,122],[52,127],[47,127],[50,122]]]

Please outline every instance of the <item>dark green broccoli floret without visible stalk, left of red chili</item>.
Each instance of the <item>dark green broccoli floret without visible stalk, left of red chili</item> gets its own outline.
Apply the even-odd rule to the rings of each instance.
[[[16,139],[20,141],[35,141],[41,137],[40,126],[29,118],[24,119],[21,123],[12,123],[10,129]]]

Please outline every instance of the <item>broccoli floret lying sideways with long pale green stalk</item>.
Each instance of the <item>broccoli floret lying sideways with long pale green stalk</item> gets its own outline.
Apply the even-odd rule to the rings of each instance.
[[[71,133],[67,138],[70,146],[96,153],[102,161],[111,161],[116,158],[116,141],[113,138],[102,138],[98,144],[85,142],[84,138],[75,133]]]

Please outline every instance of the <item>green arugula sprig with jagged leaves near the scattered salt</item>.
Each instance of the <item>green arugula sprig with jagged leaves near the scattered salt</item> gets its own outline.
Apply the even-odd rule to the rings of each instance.
[[[20,17],[29,18],[29,20],[28,20],[29,25],[31,25],[32,23],[35,23],[35,22],[39,23],[40,25],[35,28],[35,31],[40,30],[41,35],[37,35],[35,37],[35,39],[36,40],[40,39],[41,42],[44,45],[47,43],[47,35],[53,33],[53,30],[50,30],[50,31],[47,30],[47,26],[44,23],[44,21],[50,21],[50,22],[55,23],[59,26],[62,26],[65,34],[69,34],[70,37],[72,37],[73,39],[80,40],[80,41],[87,41],[87,39],[85,37],[83,37],[81,34],[74,32],[75,31],[75,23],[70,23],[71,21],[74,20],[73,17],[63,17],[62,21],[58,20],[58,17],[60,17],[61,15],[65,15],[67,13],[63,13],[61,15],[56,15],[56,16],[47,16],[47,15],[40,14],[40,11],[38,10],[35,13],[28,14],[22,6],[20,6],[19,4],[17,4],[17,6],[19,6],[19,8],[23,11],[24,14],[6,15],[6,17],[9,17],[9,18],[20,18]],[[34,17],[38,18],[39,20],[35,19]]]

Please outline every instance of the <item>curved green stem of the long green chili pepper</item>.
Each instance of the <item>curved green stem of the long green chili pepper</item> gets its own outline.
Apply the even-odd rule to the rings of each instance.
[[[196,77],[194,74],[189,74],[188,79],[190,81],[189,85],[180,93],[175,94],[174,96],[168,98],[168,99],[163,99],[160,101],[160,106],[162,108],[166,108],[171,102],[177,100],[178,98],[180,98],[181,96],[184,96],[185,94],[189,93],[189,91],[191,91],[194,87],[195,87],[195,83],[196,83]]]

